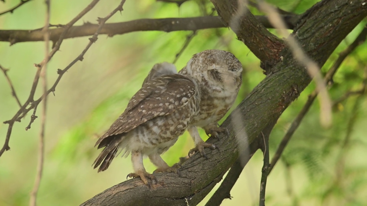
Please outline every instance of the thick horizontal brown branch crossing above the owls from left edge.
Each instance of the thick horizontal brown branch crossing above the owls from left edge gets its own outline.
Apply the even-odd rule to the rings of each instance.
[[[287,23],[295,25],[298,15],[284,15]],[[266,16],[255,16],[259,22],[266,27],[272,27]],[[85,23],[81,26],[73,26],[69,29],[65,38],[75,38],[91,36],[98,29],[98,24]],[[219,16],[201,16],[193,18],[166,18],[166,19],[138,19],[128,22],[106,23],[101,30],[101,34],[107,34],[112,37],[117,34],[126,34],[138,31],[182,31],[182,30],[200,30],[220,28],[225,25]],[[50,40],[57,41],[65,26],[50,29]],[[25,41],[43,41],[41,29],[34,30],[0,30],[0,41],[8,41],[11,44]]]

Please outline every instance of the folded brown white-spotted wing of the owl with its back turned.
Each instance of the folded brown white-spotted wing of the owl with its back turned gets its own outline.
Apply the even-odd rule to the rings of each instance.
[[[195,98],[197,92],[196,82],[181,74],[168,74],[146,82],[95,145],[106,137],[129,132],[150,119],[173,113]]]

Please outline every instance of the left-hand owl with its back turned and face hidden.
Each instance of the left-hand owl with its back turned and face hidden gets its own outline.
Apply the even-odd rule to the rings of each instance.
[[[176,67],[167,62],[153,66],[125,111],[95,144],[98,149],[104,148],[95,159],[94,168],[99,166],[98,172],[106,170],[123,151],[125,157],[131,153],[134,168],[128,177],[140,177],[149,188],[157,179],[146,172],[143,156],[148,156],[157,166],[153,173],[177,173],[177,165],[169,167],[160,155],[198,115],[199,104],[200,88],[194,78],[177,74]]]

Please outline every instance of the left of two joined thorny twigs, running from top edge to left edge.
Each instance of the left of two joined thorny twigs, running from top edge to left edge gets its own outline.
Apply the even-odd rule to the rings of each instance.
[[[37,67],[37,71],[36,71],[36,75],[34,76],[32,88],[30,90],[30,94],[29,94],[29,97],[28,97],[27,101],[17,111],[17,113],[14,115],[14,117],[12,119],[7,120],[7,121],[4,122],[4,124],[9,124],[9,127],[8,127],[8,132],[7,132],[7,135],[6,135],[6,138],[5,138],[4,146],[0,150],[0,157],[4,153],[4,151],[10,150],[10,147],[9,147],[9,139],[10,139],[11,129],[12,129],[12,126],[14,125],[14,122],[15,121],[21,121],[21,118],[23,118],[26,115],[26,113],[28,113],[29,110],[31,110],[32,108],[36,107],[36,105],[38,105],[39,102],[41,101],[40,99],[43,99],[43,95],[42,95],[39,98],[39,101],[36,101],[35,102],[33,100],[34,99],[34,93],[36,92],[38,80],[39,80],[39,77],[40,77],[40,72],[41,72],[42,67],[46,63],[46,60],[49,61],[52,58],[52,56],[55,54],[55,52],[58,51],[58,49],[60,48],[60,45],[62,43],[62,40],[65,38],[66,33],[68,32],[68,30],[70,29],[70,27],[72,27],[73,24],[76,21],[78,21],[82,16],[84,16],[88,11],[90,11],[94,7],[94,5],[98,3],[98,1],[99,0],[93,0],[86,8],[84,8],[83,11],[81,11],[75,18],[73,18],[67,25],[65,25],[65,27],[63,28],[64,30],[60,34],[57,43],[55,43],[55,47],[52,49],[52,51],[50,52],[50,54],[48,54],[48,58],[43,59],[41,61],[41,63],[39,63],[39,64],[34,64],[34,66]],[[42,34],[42,35],[44,35],[44,34]],[[59,81],[59,79],[57,81]],[[47,95],[48,95],[48,93],[47,93]],[[29,103],[32,103],[32,104],[27,109],[26,107],[29,105]]]

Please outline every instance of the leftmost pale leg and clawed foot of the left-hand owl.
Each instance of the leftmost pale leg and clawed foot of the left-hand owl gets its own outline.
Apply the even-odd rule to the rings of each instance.
[[[141,154],[140,151],[131,152],[131,162],[134,168],[134,173],[128,174],[127,177],[132,178],[140,177],[143,183],[148,185],[149,188],[150,188],[150,181],[154,180],[156,183],[158,182],[157,178],[153,174],[149,174],[148,172],[146,172],[143,165],[143,155]],[[150,181],[148,179],[150,179]]]

